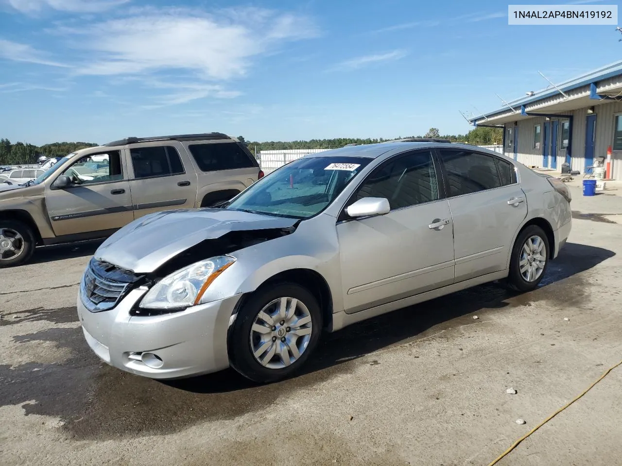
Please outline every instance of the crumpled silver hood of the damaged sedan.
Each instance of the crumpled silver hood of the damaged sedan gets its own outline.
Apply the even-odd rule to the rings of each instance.
[[[95,258],[134,273],[149,273],[203,240],[231,231],[287,228],[297,221],[225,209],[156,212],[111,235],[98,247]]]

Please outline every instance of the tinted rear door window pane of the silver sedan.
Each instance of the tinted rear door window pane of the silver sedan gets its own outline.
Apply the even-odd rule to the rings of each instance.
[[[476,193],[501,186],[495,157],[476,152],[441,150],[450,196]]]

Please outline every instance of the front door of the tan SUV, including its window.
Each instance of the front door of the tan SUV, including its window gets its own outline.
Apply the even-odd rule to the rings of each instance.
[[[62,173],[72,179],[72,185],[55,188],[54,180],[46,185],[45,204],[55,235],[106,236],[134,219],[128,170],[121,151],[97,155],[106,156],[108,163],[93,168],[90,156],[83,157]]]

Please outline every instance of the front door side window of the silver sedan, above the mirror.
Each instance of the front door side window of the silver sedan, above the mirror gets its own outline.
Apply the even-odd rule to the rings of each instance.
[[[377,168],[358,189],[356,200],[362,198],[386,198],[391,209],[439,199],[432,153],[409,153]]]

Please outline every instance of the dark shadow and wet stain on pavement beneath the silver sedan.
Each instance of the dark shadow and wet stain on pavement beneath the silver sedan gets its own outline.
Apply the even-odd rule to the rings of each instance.
[[[550,263],[546,281],[531,293],[516,295],[500,283],[491,283],[327,334],[298,377],[271,386],[249,383],[233,370],[167,383],[136,377],[101,363],[79,327],[14,336],[18,350],[22,343],[47,340],[71,349],[72,357],[55,364],[0,366],[0,406],[21,404],[27,415],[57,416],[67,434],[77,439],[167,434],[200,421],[233,419],[266,408],[292,391],[352,373],[361,363],[358,359],[375,350],[421,337],[448,338],[450,333],[437,334],[473,323],[471,313],[485,316],[544,299],[560,308],[589,304],[588,278],[578,274],[613,255],[606,249],[567,244],[559,259]],[[45,319],[44,312],[34,311],[33,319]],[[62,314],[60,321],[65,322],[69,311]],[[53,321],[52,316],[49,320]],[[427,362],[421,359],[421,363]]]

